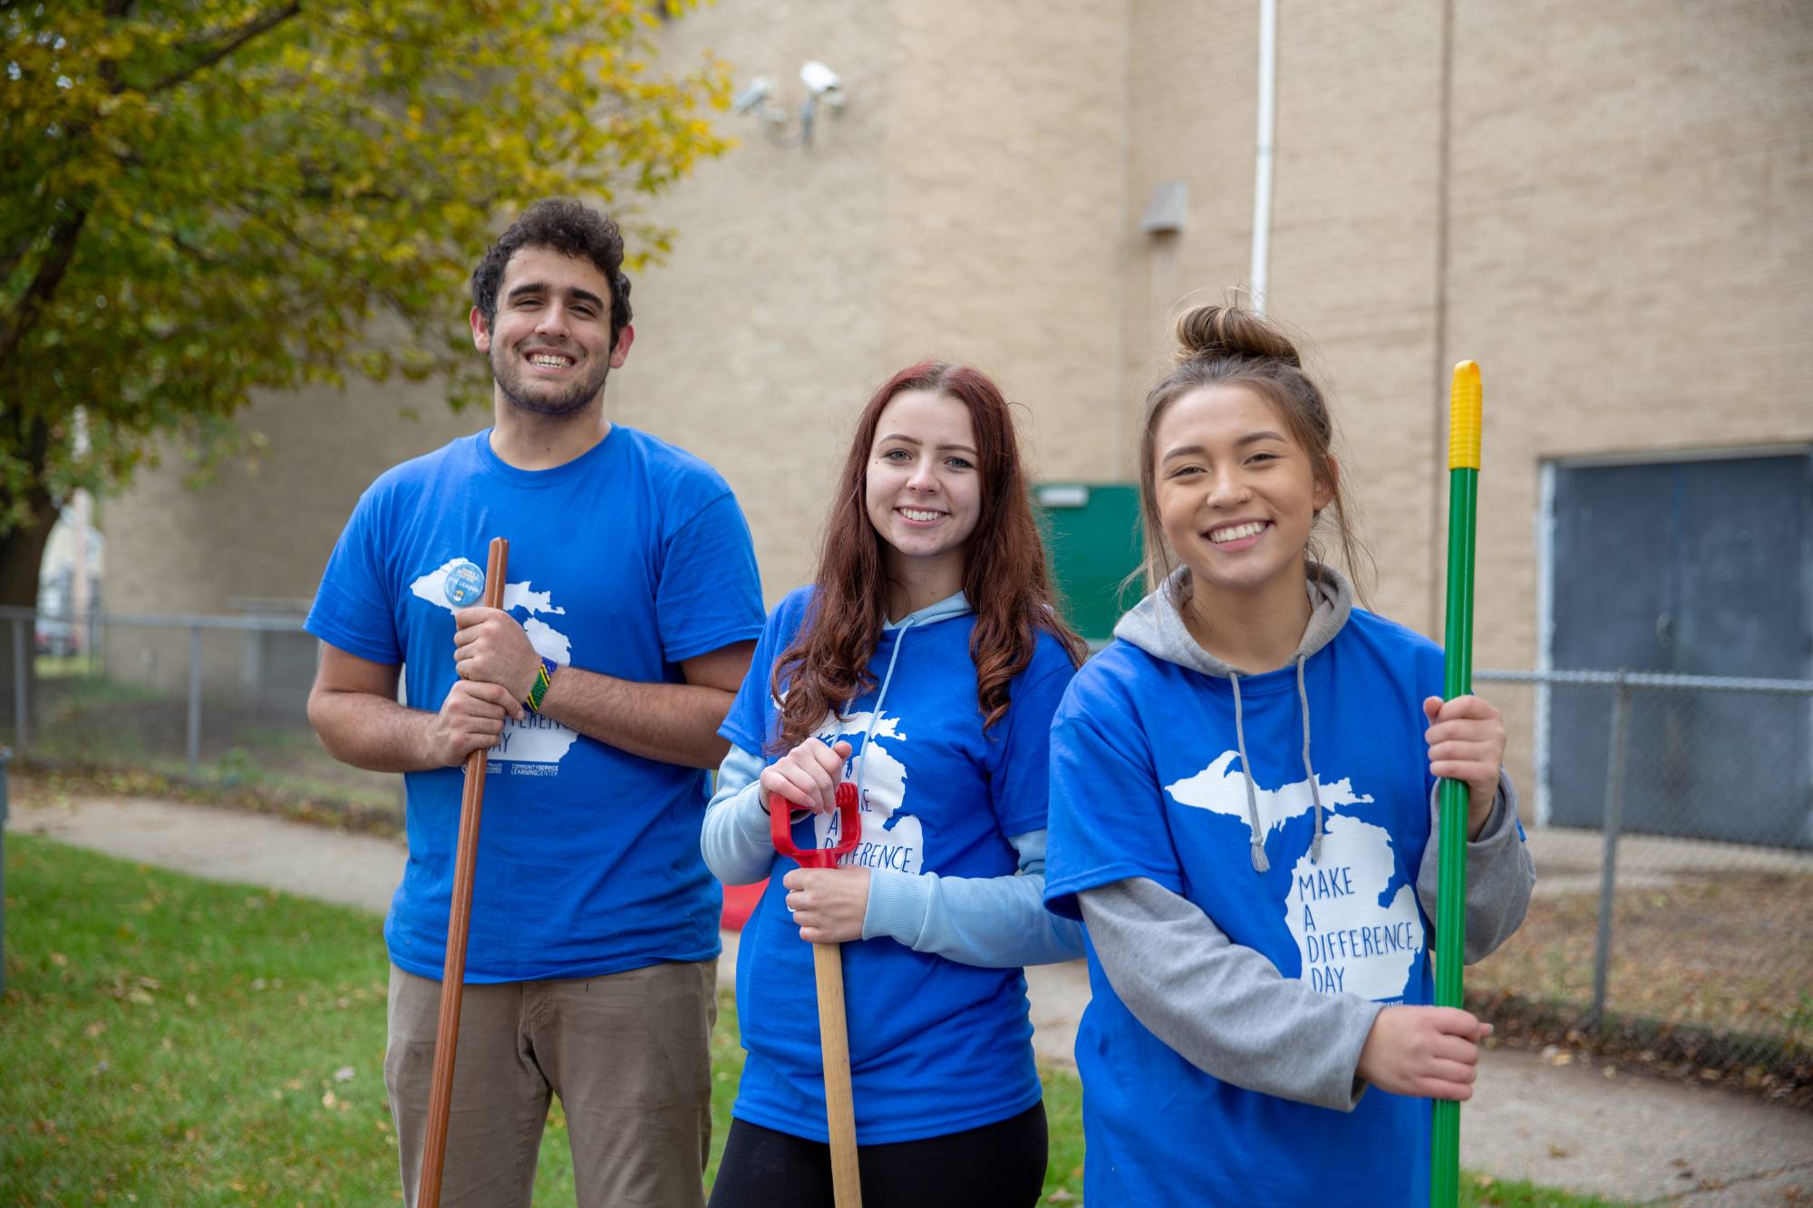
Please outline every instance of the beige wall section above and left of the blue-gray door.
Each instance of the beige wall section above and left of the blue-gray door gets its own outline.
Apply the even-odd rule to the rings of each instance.
[[[1809,51],[1797,4],[1458,5],[1443,359],[1487,381],[1476,666],[1537,660],[1545,461],[1813,441]],[[1534,787],[1534,693],[1498,693]]]

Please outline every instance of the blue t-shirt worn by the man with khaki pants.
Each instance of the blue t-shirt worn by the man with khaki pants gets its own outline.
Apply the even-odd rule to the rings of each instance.
[[[680,684],[680,662],[761,631],[749,526],[718,473],[633,428],[553,470],[517,470],[490,430],[373,482],[341,533],[306,628],[404,666],[406,704],[457,678],[453,613],[484,602],[509,539],[504,608],[535,649],[604,675]],[[549,718],[490,753],[468,981],[589,978],[718,952],[722,891],[698,851],[705,773]],[[410,860],[384,920],[390,960],[441,978],[464,774],[408,773]]]

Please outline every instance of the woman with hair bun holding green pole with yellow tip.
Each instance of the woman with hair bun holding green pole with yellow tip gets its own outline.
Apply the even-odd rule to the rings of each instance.
[[[1478,697],[1354,606],[1333,423],[1291,341],[1198,307],[1146,397],[1149,595],[1052,731],[1046,903],[1081,918],[1091,1204],[1429,1201],[1430,1099],[1472,1014],[1430,1007],[1436,780],[1469,787],[1467,961],[1536,880]]]

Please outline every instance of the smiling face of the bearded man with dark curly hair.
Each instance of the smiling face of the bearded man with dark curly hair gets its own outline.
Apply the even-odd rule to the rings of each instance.
[[[471,337],[491,359],[497,399],[537,415],[571,415],[604,392],[629,356],[631,328],[611,341],[611,285],[589,259],[524,247],[504,267],[497,317],[473,308]]]

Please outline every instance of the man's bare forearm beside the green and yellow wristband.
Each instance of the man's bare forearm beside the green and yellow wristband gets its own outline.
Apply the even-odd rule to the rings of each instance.
[[[718,736],[732,693],[703,684],[640,684],[562,667],[542,716],[620,751],[682,767],[716,767],[731,744]]]

